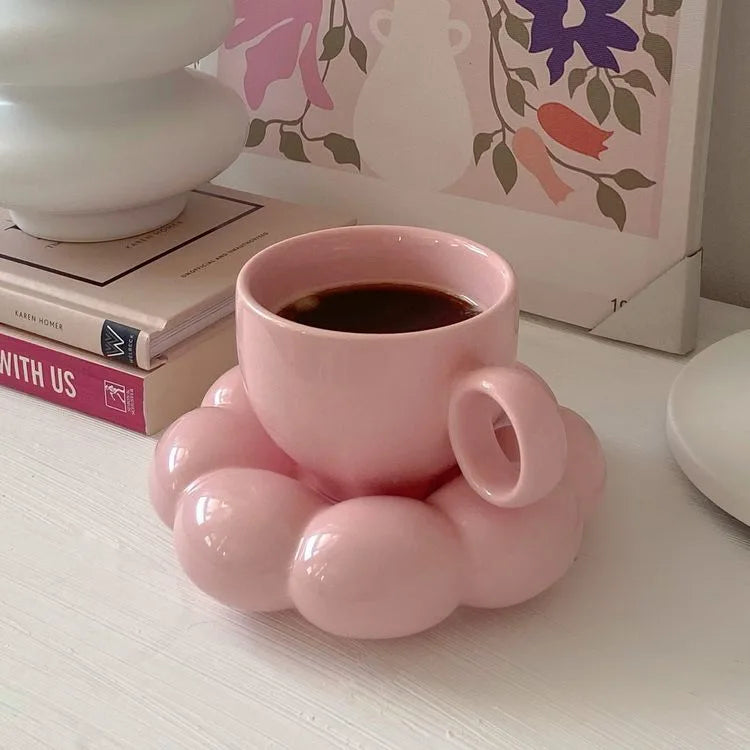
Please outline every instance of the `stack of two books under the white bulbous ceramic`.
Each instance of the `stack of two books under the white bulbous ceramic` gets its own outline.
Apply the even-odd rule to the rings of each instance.
[[[148,234],[68,244],[0,211],[0,385],[148,435],[237,362],[237,274],[263,248],[353,221],[214,185]]]

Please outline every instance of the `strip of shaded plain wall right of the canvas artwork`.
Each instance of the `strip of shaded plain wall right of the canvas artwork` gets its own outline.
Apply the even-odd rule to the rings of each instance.
[[[724,0],[703,243],[703,294],[750,307],[748,0]]]

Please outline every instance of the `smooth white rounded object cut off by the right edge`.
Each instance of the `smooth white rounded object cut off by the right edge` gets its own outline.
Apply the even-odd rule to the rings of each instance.
[[[714,344],[680,373],[667,437],[688,479],[750,525],[750,331]]]

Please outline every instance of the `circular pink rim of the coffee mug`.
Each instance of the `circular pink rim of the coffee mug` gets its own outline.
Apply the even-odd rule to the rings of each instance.
[[[300,240],[314,240],[316,237],[321,236],[336,236],[336,235],[357,235],[364,233],[366,230],[369,231],[384,231],[392,234],[407,234],[407,235],[420,235],[421,237],[430,237],[436,240],[442,240],[446,242],[458,242],[469,250],[476,252],[486,259],[488,264],[495,267],[497,271],[506,279],[505,288],[503,293],[488,307],[481,310],[477,315],[467,318],[466,320],[458,321],[457,323],[450,323],[445,326],[438,326],[437,328],[423,328],[417,331],[403,331],[400,333],[361,333],[357,331],[336,331],[327,328],[315,328],[314,326],[308,326],[304,323],[298,323],[288,318],[283,318],[281,315],[275,313],[273,310],[269,310],[267,307],[262,305],[254,295],[250,293],[250,285],[247,283],[247,277],[253,273],[254,266],[262,258],[279,251],[279,248],[288,245],[292,242],[299,242]],[[339,340],[355,340],[355,341],[396,341],[409,338],[417,338],[427,335],[440,335],[441,332],[456,331],[463,327],[471,326],[479,321],[484,320],[487,316],[497,313],[498,310],[507,306],[508,302],[512,300],[516,294],[518,287],[518,280],[516,273],[513,270],[511,264],[499,253],[494,252],[486,245],[482,245],[479,242],[470,240],[467,237],[463,237],[458,234],[451,232],[443,232],[438,229],[428,229],[422,227],[414,227],[407,225],[398,224],[352,224],[343,227],[332,227],[329,229],[318,229],[312,232],[305,232],[294,237],[287,237],[286,239],[274,242],[272,245],[261,250],[259,253],[254,255],[240,270],[237,276],[236,284],[236,304],[242,303],[246,308],[249,308],[260,317],[267,321],[285,328],[290,331],[300,333],[307,336],[318,336],[326,339],[339,339]]]

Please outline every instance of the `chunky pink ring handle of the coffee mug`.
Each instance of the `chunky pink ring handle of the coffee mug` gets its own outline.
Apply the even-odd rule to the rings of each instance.
[[[497,406],[515,432],[518,462],[505,455],[495,437]],[[451,394],[448,432],[464,478],[493,505],[531,505],[549,494],[565,472],[567,438],[557,401],[523,365],[487,367],[461,378]]]

